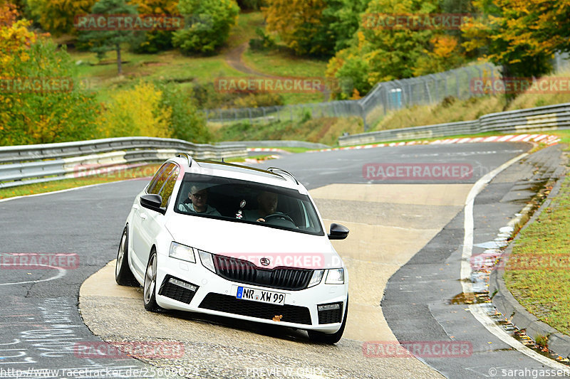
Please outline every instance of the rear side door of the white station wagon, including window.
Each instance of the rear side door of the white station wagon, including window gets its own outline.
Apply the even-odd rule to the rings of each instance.
[[[159,193],[175,166],[176,165],[172,162],[163,164],[148,184],[145,192],[142,194]],[[138,272],[138,274],[142,275],[145,272],[148,254],[150,252],[150,247],[147,246],[146,242],[148,239],[148,233],[145,231],[148,225],[147,219],[149,218],[149,215],[157,212],[143,208],[142,205],[140,205],[139,199],[140,198],[137,198],[133,204],[133,209],[135,211],[129,233],[132,236],[132,246],[130,251],[133,252],[133,254],[130,255],[131,262],[133,264],[133,268]]]

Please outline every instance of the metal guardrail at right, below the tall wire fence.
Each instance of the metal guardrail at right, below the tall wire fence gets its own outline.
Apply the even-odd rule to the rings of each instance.
[[[485,114],[473,121],[353,134],[339,137],[338,144],[351,146],[400,139],[449,137],[482,132],[527,133],[556,129],[570,129],[570,103]]]

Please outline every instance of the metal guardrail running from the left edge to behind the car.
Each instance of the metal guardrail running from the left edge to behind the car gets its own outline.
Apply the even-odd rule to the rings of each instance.
[[[239,142],[214,146],[180,139],[121,137],[60,144],[0,146],[0,188],[98,175],[165,161],[185,152],[195,159],[247,156]]]

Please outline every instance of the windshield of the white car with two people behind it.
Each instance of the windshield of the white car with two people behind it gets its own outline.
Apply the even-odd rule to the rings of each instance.
[[[324,235],[309,196],[234,178],[185,174],[175,212]]]

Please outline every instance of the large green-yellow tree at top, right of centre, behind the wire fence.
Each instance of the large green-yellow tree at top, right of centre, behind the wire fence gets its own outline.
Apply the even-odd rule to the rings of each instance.
[[[410,78],[460,65],[462,54],[457,38],[444,28],[386,23],[388,16],[429,19],[430,14],[440,12],[440,4],[435,0],[370,1],[350,46],[339,50],[328,63],[328,77],[353,80],[356,92],[340,97],[351,97],[354,93],[363,95],[377,82]]]

